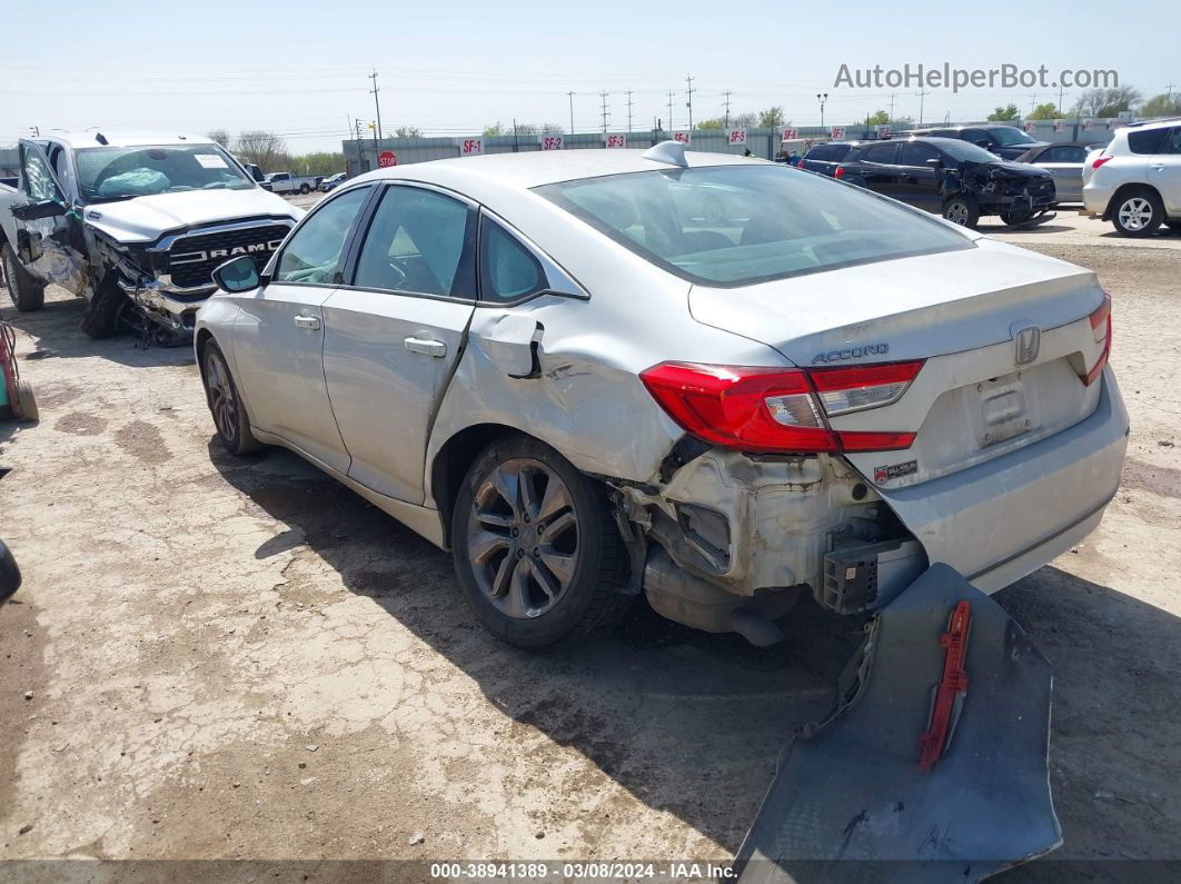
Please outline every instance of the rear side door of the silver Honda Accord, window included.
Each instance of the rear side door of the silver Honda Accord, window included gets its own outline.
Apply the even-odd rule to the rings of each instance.
[[[380,195],[324,307],[324,372],[348,476],[420,504],[426,440],[476,305],[478,214],[400,182]]]

